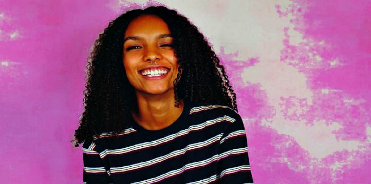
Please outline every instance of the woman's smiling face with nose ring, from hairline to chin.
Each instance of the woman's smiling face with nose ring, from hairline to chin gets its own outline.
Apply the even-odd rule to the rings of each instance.
[[[128,25],[123,61],[129,82],[137,92],[174,93],[179,65],[170,34],[167,24],[153,15],[139,16]]]

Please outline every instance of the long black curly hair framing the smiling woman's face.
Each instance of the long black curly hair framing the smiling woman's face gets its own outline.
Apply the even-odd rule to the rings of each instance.
[[[133,120],[132,112],[138,112],[135,89],[122,61],[124,34],[132,20],[147,14],[164,20],[173,37],[180,65],[174,80],[175,106],[179,99],[187,99],[196,105],[219,104],[237,111],[236,93],[224,67],[197,27],[163,6],[135,9],[111,21],[95,41],[86,71],[85,109],[72,141],[75,146],[102,132],[121,132],[125,122]]]

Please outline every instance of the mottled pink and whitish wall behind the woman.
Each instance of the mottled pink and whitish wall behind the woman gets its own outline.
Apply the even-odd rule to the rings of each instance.
[[[165,4],[213,45],[257,184],[371,183],[370,0],[0,0],[0,183],[81,183],[70,143],[109,20]]]

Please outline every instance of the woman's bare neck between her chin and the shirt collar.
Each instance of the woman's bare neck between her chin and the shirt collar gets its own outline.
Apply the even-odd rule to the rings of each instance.
[[[136,93],[138,113],[133,113],[133,118],[144,129],[160,130],[168,127],[183,112],[183,100],[180,100],[179,108],[174,106],[174,90],[161,95]]]

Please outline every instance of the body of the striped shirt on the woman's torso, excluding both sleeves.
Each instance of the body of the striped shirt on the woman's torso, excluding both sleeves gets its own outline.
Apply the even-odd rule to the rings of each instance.
[[[187,104],[165,129],[146,130],[131,122],[119,136],[96,139],[95,149],[109,165],[112,183],[192,183],[216,177],[219,142],[233,119],[226,112],[236,114],[225,106]]]

